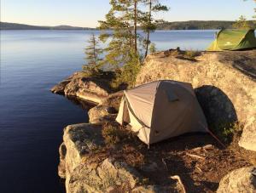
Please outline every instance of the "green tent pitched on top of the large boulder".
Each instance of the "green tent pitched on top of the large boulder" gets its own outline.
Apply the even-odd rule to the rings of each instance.
[[[221,30],[207,51],[256,48],[254,30]]]

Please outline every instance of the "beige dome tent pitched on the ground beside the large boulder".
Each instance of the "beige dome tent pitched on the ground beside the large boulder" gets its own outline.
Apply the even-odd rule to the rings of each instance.
[[[116,121],[131,125],[145,144],[183,133],[207,132],[207,121],[189,83],[156,81],[125,91]]]

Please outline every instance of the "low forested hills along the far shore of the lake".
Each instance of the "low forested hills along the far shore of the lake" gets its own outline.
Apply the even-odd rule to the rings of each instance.
[[[236,21],[226,20],[189,20],[189,21],[174,21],[162,22],[157,25],[158,31],[171,30],[219,30],[223,28],[232,28]],[[249,20],[252,22],[253,20]],[[93,27],[78,27],[78,26],[31,26],[26,24],[17,24],[9,22],[0,22],[0,30],[67,30],[67,31],[99,31]]]

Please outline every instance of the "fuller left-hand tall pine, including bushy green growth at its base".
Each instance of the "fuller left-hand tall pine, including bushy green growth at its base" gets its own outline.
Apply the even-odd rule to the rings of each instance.
[[[137,25],[142,13],[138,8],[143,0],[111,0],[106,20],[99,21],[100,39],[106,43],[104,63],[116,71],[115,87],[125,82],[132,86],[140,66],[137,49]],[[111,31],[108,31],[111,30]],[[109,38],[111,37],[111,38]]]

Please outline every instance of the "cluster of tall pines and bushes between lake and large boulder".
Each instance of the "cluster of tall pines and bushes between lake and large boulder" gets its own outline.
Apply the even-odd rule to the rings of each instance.
[[[100,40],[103,43],[110,41],[104,49],[106,55],[102,62],[116,72],[116,78],[111,82],[112,88],[120,88],[120,85],[132,87],[143,58],[137,49],[137,44],[142,43],[137,26],[141,26],[147,35],[143,41],[147,55],[149,33],[156,28],[152,13],[168,9],[157,0],[111,0],[110,5],[106,20],[99,21],[99,29],[103,31]],[[144,11],[145,7],[148,12]],[[107,31],[109,29],[112,31]],[[155,51],[154,44],[151,50]]]

